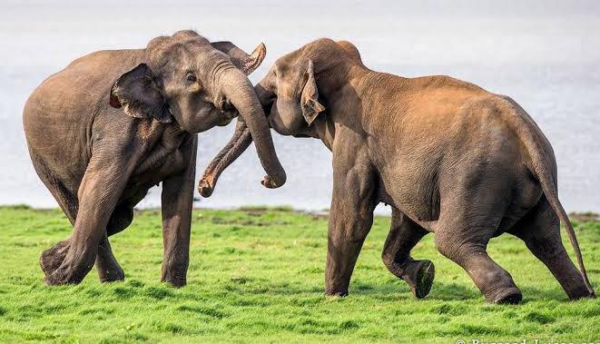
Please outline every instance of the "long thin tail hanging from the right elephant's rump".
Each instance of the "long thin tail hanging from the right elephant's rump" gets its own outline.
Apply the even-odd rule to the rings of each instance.
[[[515,113],[513,113],[514,116],[512,116],[512,118],[516,120],[513,122],[516,123],[516,133],[518,133],[518,136],[525,144],[526,151],[531,157],[531,165],[528,166],[528,169],[534,174],[537,182],[539,182],[542,191],[546,195],[546,200],[550,204],[550,207],[552,207],[552,210],[556,213],[556,217],[558,217],[558,220],[561,221],[565,226],[566,234],[568,235],[569,241],[571,241],[571,245],[573,245],[573,250],[575,251],[575,257],[579,265],[581,276],[584,279],[585,287],[592,295],[595,295],[594,289],[587,278],[584,259],[582,258],[581,250],[579,249],[579,242],[575,236],[573,224],[571,221],[569,221],[565,208],[563,208],[561,202],[558,201],[557,183],[554,178],[554,173],[552,172],[553,166],[551,163],[549,163],[554,160],[554,156],[553,154],[546,152],[540,143],[542,140],[546,140],[546,138],[544,137],[543,133],[539,132],[536,123],[520,105],[508,97],[505,99],[509,101],[509,103],[511,103],[515,109]]]

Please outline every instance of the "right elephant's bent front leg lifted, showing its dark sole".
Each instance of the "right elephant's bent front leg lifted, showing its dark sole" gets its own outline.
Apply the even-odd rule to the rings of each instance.
[[[413,295],[418,299],[425,298],[435,276],[435,267],[430,260],[413,260],[410,250],[420,241],[428,231],[417,223],[392,208],[391,230],[383,247],[381,259],[398,279],[405,280]]]

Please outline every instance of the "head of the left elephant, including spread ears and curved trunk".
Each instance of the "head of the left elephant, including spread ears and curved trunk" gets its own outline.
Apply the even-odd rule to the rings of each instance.
[[[261,103],[247,78],[265,53],[264,44],[246,54],[230,42],[211,43],[193,31],[157,37],[145,49],[145,63],[113,84],[110,104],[122,107],[132,117],[161,123],[174,118],[189,133],[225,125],[239,113],[270,183],[279,187],[286,174]]]

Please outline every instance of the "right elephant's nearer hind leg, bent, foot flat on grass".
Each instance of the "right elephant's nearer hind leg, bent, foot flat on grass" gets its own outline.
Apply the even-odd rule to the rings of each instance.
[[[457,181],[440,182],[445,188],[440,186],[436,248],[467,271],[487,302],[518,303],[522,295],[515,281],[487,254],[487,243],[497,234],[508,209],[510,199],[501,197],[508,186],[497,180],[487,182],[485,172],[477,173],[473,179],[461,176]]]

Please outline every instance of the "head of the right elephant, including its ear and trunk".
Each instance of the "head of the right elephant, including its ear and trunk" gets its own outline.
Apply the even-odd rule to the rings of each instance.
[[[349,42],[330,39],[320,39],[280,57],[254,87],[270,126],[282,135],[316,137],[314,123],[320,113],[326,110],[324,100],[320,97],[320,87],[325,87],[328,94],[336,92],[328,80],[318,83],[319,74],[326,73],[335,79],[336,75],[349,73],[353,66],[364,67],[357,48]],[[330,84],[335,84],[335,81]],[[212,160],[202,176],[198,186],[202,196],[211,195],[221,172],[244,152],[251,140],[245,123],[238,120],[230,142]],[[262,183],[266,187],[274,187],[268,178]]]

